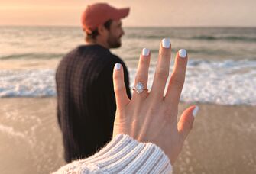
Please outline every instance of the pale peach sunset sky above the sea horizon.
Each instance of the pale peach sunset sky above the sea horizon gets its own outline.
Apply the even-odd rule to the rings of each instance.
[[[0,25],[79,26],[95,2],[130,7],[125,27],[256,27],[256,0],[0,0]]]

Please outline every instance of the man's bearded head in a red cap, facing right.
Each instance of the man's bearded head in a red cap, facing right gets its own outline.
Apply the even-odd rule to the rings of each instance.
[[[88,5],[81,18],[86,41],[108,48],[120,47],[124,34],[121,19],[128,13],[129,8],[117,9],[105,3]]]

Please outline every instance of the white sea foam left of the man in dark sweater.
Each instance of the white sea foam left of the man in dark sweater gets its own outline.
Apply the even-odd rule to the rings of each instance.
[[[56,95],[53,69],[0,71],[0,97]]]

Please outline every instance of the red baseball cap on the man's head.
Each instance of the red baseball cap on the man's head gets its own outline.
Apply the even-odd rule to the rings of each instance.
[[[91,34],[100,24],[106,21],[119,20],[129,14],[130,8],[114,8],[106,3],[88,5],[83,11],[81,21],[83,30]]]

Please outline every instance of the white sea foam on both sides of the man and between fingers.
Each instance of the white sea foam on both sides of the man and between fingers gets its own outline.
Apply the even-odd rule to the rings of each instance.
[[[172,67],[172,66],[171,66]],[[219,105],[256,105],[256,61],[190,60],[180,101]],[[131,88],[136,69],[129,69]],[[170,73],[172,68],[170,68]],[[149,70],[148,89],[154,78]],[[0,97],[56,95],[55,70],[0,71]]]

